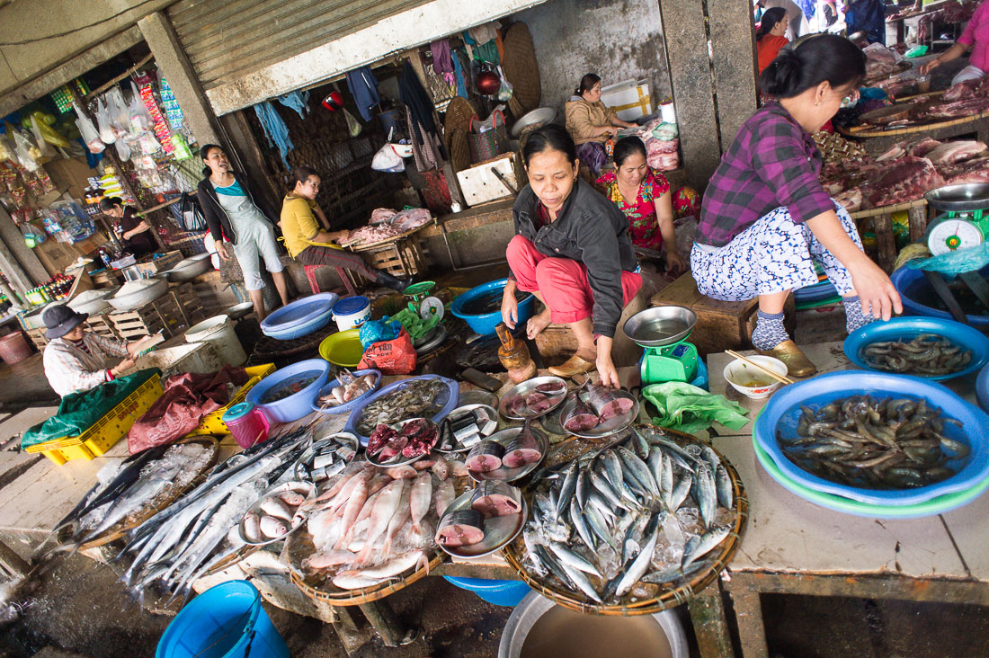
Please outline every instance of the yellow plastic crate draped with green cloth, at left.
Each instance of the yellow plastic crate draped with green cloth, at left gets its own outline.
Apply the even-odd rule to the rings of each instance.
[[[42,452],[59,466],[72,459],[92,459],[112,448],[131,430],[135,421],[161,397],[161,378],[151,377],[117,404],[103,418],[78,436],[64,436],[25,448],[25,452]]]

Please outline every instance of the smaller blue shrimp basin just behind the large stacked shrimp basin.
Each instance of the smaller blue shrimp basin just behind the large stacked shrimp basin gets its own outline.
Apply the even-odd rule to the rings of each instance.
[[[872,372],[883,372],[869,366],[861,357],[861,351],[873,342],[885,340],[911,340],[922,333],[936,333],[955,345],[972,350],[972,359],[963,370],[949,375],[917,375],[924,379],[942,381],[975,372],[989,363],[989,338],[978,329],[972,329],[945,318],[893,318],[889,322],[874,322],[852,332],[845,339],[845,355],[856,366]]]

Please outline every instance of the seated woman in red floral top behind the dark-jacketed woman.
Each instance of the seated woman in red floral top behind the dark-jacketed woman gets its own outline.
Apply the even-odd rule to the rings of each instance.
[[[770,10],[771,11],[771,10]],[[670,182],[646,164],[646,145],[636,137],[615,143],[615,171],[597,179],[610,199],[628,220],[632,243],[657,251],[667,246],[667,272],[686,270],[686,262],[676,251],[674,205]]]

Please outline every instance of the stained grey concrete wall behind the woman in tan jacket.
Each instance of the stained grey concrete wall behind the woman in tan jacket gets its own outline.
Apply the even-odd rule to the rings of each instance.
[[[542,105],[560,110],[584,73],[608,86],[649,80],[653,106],[670,94],[657,0],[550,0],[513,16],[532,34],[543,85]]]

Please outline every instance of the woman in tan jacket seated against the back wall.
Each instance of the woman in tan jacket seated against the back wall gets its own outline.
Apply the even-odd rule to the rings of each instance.
[[[635,128],[622,121],[601,102],[601,78],[587,73],[567,101],[567,130],[577,144],[577,156],[596,176],[607,161],[604,142],[618,135],[619,128]]]

